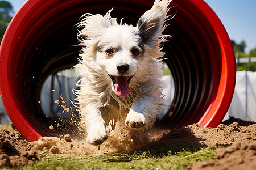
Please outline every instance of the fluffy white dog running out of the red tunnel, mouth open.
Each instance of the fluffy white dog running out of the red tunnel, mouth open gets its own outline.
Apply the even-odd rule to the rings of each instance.
[[[141,129],[162,112],[162,43],[171,0],[156,0],[136,27],[119,24],[109,10],[102,16],[84,14],[79,23],[81,61],[77,91],[86,141],[101,145],[106,123],[127,115],[125,124]]]

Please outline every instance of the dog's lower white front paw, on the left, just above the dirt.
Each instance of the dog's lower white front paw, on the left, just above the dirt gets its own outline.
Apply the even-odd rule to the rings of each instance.
[[[105,128],[94,127],[88,131],[86,141],[92,145],[101,145],[108,137],[109,135]]]

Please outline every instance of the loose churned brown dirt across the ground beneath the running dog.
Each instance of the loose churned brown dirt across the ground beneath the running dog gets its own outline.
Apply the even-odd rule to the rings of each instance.
[[[226,162],[233,167],[250,169],[256,162],[256,124],[230,118],[229,122],[217,128],[203,128],[197,124],[187,127],[164,130],[160,128],[131,130],[118,122],[109,131],[109,138],[100,147],[92,146],[85,139],[64,137],[43,137],[28,142],[13,130],[0,131],[0,167],[19,167],[38,160],[36,153],[52,154],[114,154],[143,150],[179,151],[181,148],[225,146],[217,150],[217,160],[199,162],[188,169],[224,167]],[[242,123],[241,123],[242,122]],[[242,126],[245,125],[245,126]],[[242,158],[242,159],[241,159]],[[236,162],[236,164],[234,163]],[[233,168],[234,169],[234,168]]]

